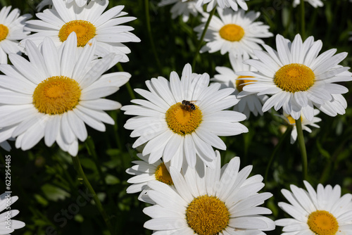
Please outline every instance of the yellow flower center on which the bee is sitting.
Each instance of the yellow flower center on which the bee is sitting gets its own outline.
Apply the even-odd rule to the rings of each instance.
[[[201,124],[202,114],[198,106],[192,110],[182,103],[175,103],[166,111],[166,122],[172,132],[182,136],[191,134]]]

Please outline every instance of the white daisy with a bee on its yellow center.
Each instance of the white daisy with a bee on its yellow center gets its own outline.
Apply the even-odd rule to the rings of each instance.
[[[218,136],[248,132],[239,123],[246,119],[245,115],[224,110],[238,102],[231,95],[234,89],[220,89],[218,83],[208,87],[209,80],[206,73],[192,74],[187,64],[181,80],[171,72],[170,82],[164,77],[152,78],[146,81],[149,91],[134,89],[148,101],[132,100],[138,106],[123,106],[121,110],[126,115],[137,115],[127,120],[125,128],[134,130],[132,137],[139,136],[133,148],[148,142],[142,154],[150,154],[150,164],[163,156],[165,163],[171,161],[179,170],[182,163],[193,168],[198,156],[206,165],[213,165],[212,146],[226,149]]]

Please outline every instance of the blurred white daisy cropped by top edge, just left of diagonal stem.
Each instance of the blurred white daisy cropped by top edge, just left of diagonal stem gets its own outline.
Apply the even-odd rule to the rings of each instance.
[[[189,14],[196,16],[198,13],[203,13],[203,8],[201,6],[196,6],[196,0],[162,0],[158,6],[166,6],[170,4],[175,4],[170,10],[172,19],[182,15],[182,20],[187,22],[189,20]]]

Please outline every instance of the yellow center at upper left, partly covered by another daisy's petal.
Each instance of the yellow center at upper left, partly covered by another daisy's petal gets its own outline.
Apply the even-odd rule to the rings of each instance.
[[[77,35],[77,46],[85,46],[87,42],[95,37],[95,26],[86,20],[72,20],[65,23],[58,32],[61,42],[65,42],[71,32],[75,31]]]

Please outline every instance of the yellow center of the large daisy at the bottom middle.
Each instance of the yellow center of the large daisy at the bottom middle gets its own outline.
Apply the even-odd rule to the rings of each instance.
[[[215,235],[230,222],[230,212],[216,196],[199,196],[189,203],[186,220],[195,234]]]

